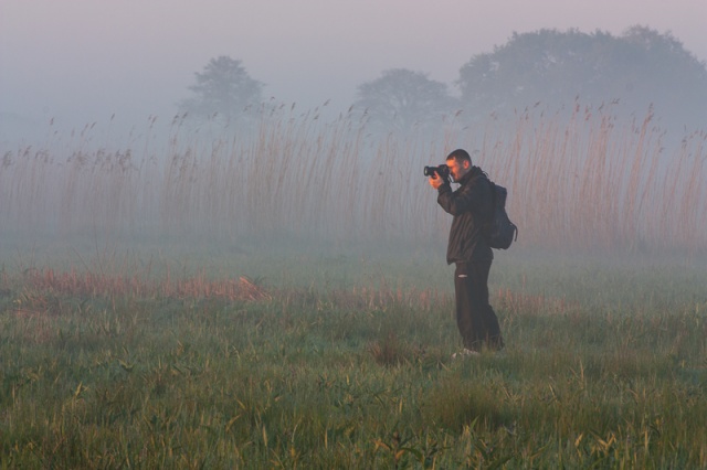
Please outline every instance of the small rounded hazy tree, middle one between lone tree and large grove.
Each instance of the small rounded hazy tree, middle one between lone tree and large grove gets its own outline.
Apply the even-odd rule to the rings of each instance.
[[[405,68],[386,71],[358,87],[354,107],[381,132],[431,130],[454,109],[446,85]]]

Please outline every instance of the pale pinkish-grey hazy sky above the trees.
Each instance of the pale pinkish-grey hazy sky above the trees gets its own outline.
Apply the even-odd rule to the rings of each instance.
[[[0,0],[0,125],[169,121],[220,55],[266,98],[338,113],[390,68],[452,86],[514,32],[636,24],[707,61],[707,0]]]

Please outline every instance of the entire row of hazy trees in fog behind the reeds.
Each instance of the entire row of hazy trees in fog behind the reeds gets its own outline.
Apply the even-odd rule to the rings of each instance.
[[[229,56],[196,73],[180,111],[229,120],[263,103],[264,84]],[[422,72],[383,71],[358,86],[351,111],[370,129],[407,132],[513,116],[529,107],[571,109],[576,103],[642,118],[648,109],[665,128],[707,127],[707,66],[671,33],[632,26],[622,35],[595,31],[514,33],[492,52],[473,55],[449,86]]]

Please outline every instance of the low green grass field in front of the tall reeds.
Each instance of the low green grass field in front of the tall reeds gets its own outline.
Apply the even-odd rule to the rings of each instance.
[[[236,261],[209,276],[267,296],[78,296],[6,267],[1,467],[707,466],[704,268],[499,256],[507,348],[453,361],[440,260]]]

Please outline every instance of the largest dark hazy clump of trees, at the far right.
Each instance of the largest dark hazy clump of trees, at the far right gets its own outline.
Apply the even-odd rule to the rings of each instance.
[[[653,105],[674,127],[707,124],[707,70],[668,34],[633,26],[622,36],[597,31],[517,34],[493,53],[472,57],[456,83],[462,106],[487,116],[580,103],[619,103],[619,114]]]

